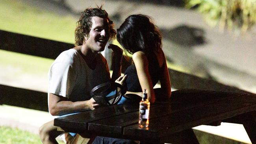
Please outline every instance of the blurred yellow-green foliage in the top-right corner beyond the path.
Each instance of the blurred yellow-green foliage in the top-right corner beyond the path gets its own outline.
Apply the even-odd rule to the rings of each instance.
[[[186,7],[204,14],[211,26],[245,33],[256,22],[256,0],[186,0]]]

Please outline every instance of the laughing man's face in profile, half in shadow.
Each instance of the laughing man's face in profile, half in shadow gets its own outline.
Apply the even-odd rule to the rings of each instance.
[[[109,40],[108,21],[100,17],[91,18],[92,26],[89,37],[85,37],[85,45],[92,52],[102,52]]]

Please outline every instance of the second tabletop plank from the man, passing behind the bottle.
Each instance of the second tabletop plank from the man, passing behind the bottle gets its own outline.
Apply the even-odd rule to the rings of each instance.
[[[200,91],[203,95],[200,95]],[[173,92],[173,99],[171,104],[158,103],[156,107],[150,107],[150,120],[162,116],[166,116],[170,113],[177,113],[186,109],[193,109],[210,103],[216,103],[219,101],[226,101],[228,99],[235,98],[245,94],[227,93],[227,92],[213,92],[207,90],[177,90]],[[179,97],[180,96],[180,97]],[[187,97],[187,99],[185,99]],[[179,99],[181,98],[181,99]],[[178,102],[176,102],[177,100]],[[180,101],[182,100],[182,101]],[[163,113],[165,111],[165,113]],[[93,131],[99,135],[109,135],[109,128],[111,133],[115,133],[116,137],[122,136],[122,128],[132,124],[138,123],[139,111],[135,111],[125,115],[119,115],[115,117],[109,117],[102,120],[90,122],[88,130]],[[127,120],[127,121],[124,121]],[[111,127],[110,127],[111,126]]]

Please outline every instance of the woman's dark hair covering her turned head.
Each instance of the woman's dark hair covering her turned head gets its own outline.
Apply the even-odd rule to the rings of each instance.
[[[150,20],[147,15],[130,15],[117,29],[117,41],[131,54],[157,51],[162,47],[162,37]]]

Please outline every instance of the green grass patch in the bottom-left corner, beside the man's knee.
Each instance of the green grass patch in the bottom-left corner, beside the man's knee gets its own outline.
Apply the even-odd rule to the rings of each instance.
[[[0,144],[42,144],[39,135],[17,128],[0,126]],[[59,144],[65,144],[58,140]]]

